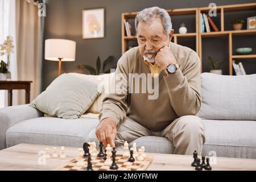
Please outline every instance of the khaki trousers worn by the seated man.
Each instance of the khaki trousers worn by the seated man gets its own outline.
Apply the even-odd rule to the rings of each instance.
[[[148,130],[133,119],[126,117],[117,130],[115,146],[118,150],[122,150],[125,141],[130,143],[139,137],[156,136],[169,139],[174,144],[174,154],[192,155],[196,150],[200,155],[205,142],[203,121],[195,115],[177,118],[160,132]]]

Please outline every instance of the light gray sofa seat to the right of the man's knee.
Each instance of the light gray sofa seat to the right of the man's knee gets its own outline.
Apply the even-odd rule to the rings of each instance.
[[[202,154],[230,158],[256,158],[256,121],[203,119],[205,143]]]

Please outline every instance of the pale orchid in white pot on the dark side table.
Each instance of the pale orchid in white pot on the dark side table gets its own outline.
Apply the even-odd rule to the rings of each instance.
[[[0,44],[0,56],[6,57],[7,61],[1,60],[0,63],[0,80],[11,80],[10,72],[10,54],[13,52],[13,39],[11,36],[7,36],[7,39],[3,44]]]

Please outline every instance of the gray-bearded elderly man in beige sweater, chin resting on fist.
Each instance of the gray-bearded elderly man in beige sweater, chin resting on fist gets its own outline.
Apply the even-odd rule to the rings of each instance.
[[[115,74],[150,74],[158,79],[159,96],[150,93],[110,93],[104,98],[96,136],[104,145],[121,147],[143,136],[169,139],[174,154],[201,152],[204,125],[196,117],[201,105],[200,59],[190,48],[171,42],[171,18],[167,11],[151,7],[135,18],[138,47],[118,60]],[[147,78],[148,80],[148,78]],[[146,81],[147,81],[146,80]],[[141,88],[142,82],[139,82]]]

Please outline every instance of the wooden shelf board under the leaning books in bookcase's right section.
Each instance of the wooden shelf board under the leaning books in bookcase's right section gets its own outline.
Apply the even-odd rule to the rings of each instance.
[[[232,35],[251,35],[256,34],[256,29],[253,30],[227,30],[227,31],[218,31],[218,32],[204,32],[200,33],[204,37],[215,37],[215,36],[228,36]]]

